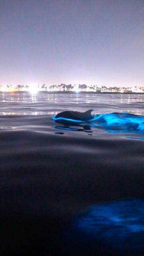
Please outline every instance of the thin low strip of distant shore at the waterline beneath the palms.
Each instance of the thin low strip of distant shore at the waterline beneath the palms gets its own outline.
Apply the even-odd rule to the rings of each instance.
[[[2,92],[1,93],[6,93]],[[14,91],[14,92],[7,92],[7,93],[30,93],[29,91]],[[72,92],[72,91],[38,91],[37,93],[45,93],[45,94],[144,94],[144,92]],[[33,93],[35,94],[35,93]]]

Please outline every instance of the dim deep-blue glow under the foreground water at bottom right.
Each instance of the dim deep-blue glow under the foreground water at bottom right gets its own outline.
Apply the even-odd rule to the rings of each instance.
[[[90,207],[84,216],[77,219],[76,226],[94,236],[104,237],[108,232],[108,237],[114,239],[114,236],[121,237],[121,229],[124,236],[144,232],[143,216],[144,200],[126,200]],[[98,233],[100,230],[103,230],[101,234]]]

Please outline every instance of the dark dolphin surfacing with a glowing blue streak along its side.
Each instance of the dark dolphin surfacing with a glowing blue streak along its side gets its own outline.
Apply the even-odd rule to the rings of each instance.
[[[93,119],[93,116],[91,115],[91,112],[93,109],[87,110],[86,112],[78,112],[78,111],[64,111],[61,113],[58,113],[54,120],[60,120],[63,118],[66,118],[67,120],[77,120],[77,121],[89,121]]]

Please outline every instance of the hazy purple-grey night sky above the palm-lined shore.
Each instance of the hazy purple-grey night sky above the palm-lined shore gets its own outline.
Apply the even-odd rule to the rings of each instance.
[[[144,86],[144,0],[0,0],[0,84]]]

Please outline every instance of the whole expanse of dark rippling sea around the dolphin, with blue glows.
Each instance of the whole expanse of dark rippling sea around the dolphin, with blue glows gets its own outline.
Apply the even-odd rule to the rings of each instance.
[[[0,93],[0,172],[0,255],[144,254],[144,95]]]

